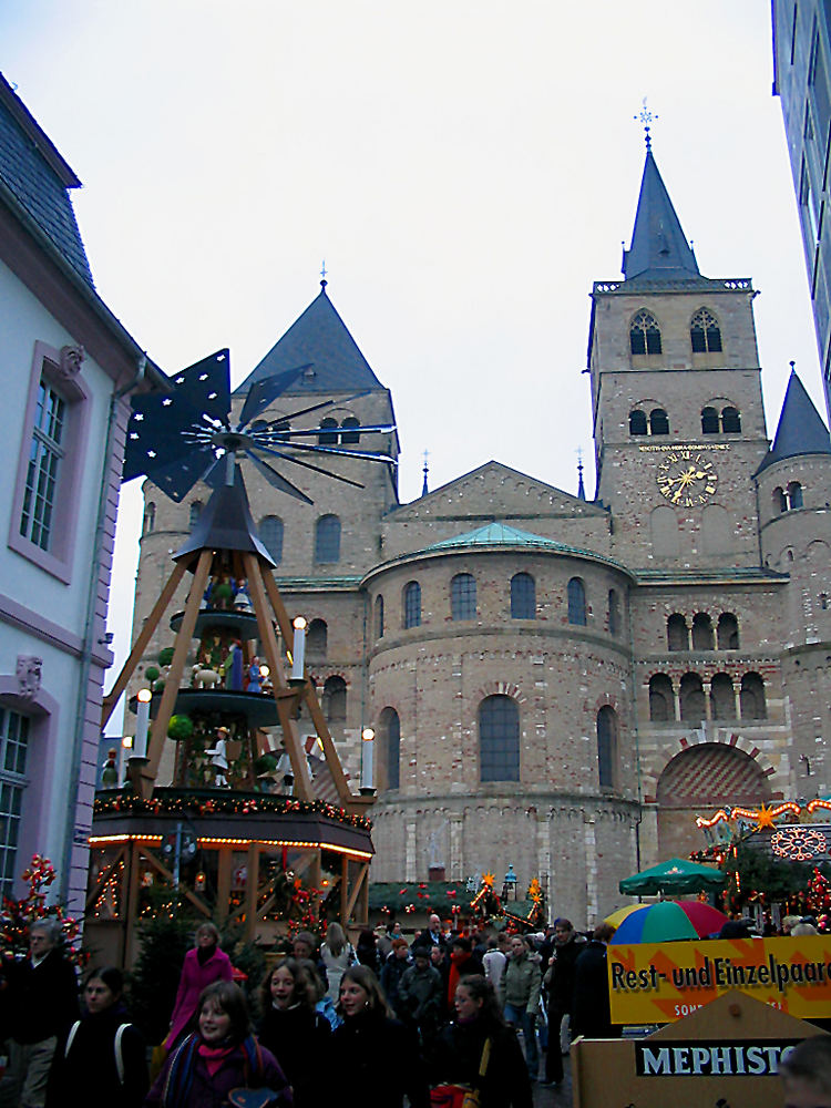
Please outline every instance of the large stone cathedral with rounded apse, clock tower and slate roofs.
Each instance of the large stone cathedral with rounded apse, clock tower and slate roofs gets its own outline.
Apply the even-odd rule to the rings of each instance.
[[[592,290],[594,500],[491,461],[401,504],[394,468],[338,456],[346,481],[291,473],[309,504],[244,463],[356,792],[376,732],[372,880],[512,864],[591,923],[622,876],[704,845],[697,814],[828,791],[831,441],[796,373],[769,441],[755,295],[701,275],[647,148],[623,276]],[[235,410],[297,366],[263,420],[398,456],[356,430],[392,397],[325,281]],[[145,482],[134,638],[209,493]]]

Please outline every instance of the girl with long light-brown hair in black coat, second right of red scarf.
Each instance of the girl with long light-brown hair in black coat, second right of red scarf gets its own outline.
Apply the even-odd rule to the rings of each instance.
[[[428,1108],[428,1086],[416,1035],[390,1019],[378,978],[350,966],[340,982],[339,1008],[329,1054],[338,1077],[338,1108]]]

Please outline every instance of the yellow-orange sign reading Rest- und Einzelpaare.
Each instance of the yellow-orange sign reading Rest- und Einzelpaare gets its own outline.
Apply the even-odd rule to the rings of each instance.
[[[731,988],[800,1018],[831,1016],[831,935],[608,948],[613,1024],[665,1024]]]

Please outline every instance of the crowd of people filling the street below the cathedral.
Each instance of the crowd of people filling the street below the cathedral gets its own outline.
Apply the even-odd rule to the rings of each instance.
[[[90,971],[79,1006],[60,924],[44,920],[30,957],[3,963],[0,1108],[57,1108],[70,1088],[89,1108],[219,1108],[243,1089],[259,1090],[247,1105],[279,1108],[428,1108],[452,1104],[459,1087],[481,1108],[531,1108],[534,1081],[563,1083],[573,1037],[620,1033],[609,1018],[613,934],[561,919],[538,935],[468,936],[433,915],[411,942],[379,927],[353,946],[330,923],[321,944],[295,935],[246,997],[216,927],[203,924],[151,1075],[121,971]]]

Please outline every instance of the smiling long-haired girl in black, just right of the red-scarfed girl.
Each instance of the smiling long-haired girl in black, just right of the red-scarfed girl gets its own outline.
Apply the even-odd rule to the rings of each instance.
[[[284,958],[260,988],[263,1020],[259,1042],[275,1056],[288,1078],[295,1108],[326,1102],[326,1066],[331,1027],[315,1010],[316,989],[295,958]]]

